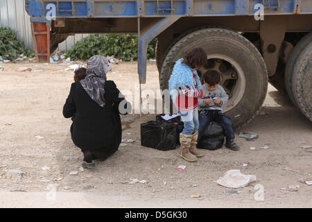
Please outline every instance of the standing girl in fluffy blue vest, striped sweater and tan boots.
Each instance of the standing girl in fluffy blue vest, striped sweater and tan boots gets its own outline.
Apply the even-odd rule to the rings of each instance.
[[[207,54],[201,48],[193,49],[184,58],[177,60],[169,79],[171,98],[177,107],[184,129],[180,134],[178,156],[195,162],[204,154],[196,148],[198,139],[198,98],[205,97],[197,70],[207,62]]]

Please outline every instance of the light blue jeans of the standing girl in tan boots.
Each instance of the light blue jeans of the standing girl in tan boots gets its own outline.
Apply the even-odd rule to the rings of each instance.
[[[199,128],[198,108],[189,111],[179,110],[179,113],[181,115],[181,120],[184,123],[182,133],[185,135],[192,135],[193,133],[196,133]]]

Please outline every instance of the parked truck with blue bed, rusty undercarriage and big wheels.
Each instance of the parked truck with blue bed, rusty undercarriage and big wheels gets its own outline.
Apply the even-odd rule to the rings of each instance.
[[[202,47],[207,64],[199,75],[221,74],[229,95],[224,110],[236,128],[255,116],[268,83],[312,121],[312,0],[25,1],[40,62],[69,35],[137,33],[139,80],[146,83],[147,46],[157,37],[161,89],[175,61]]]

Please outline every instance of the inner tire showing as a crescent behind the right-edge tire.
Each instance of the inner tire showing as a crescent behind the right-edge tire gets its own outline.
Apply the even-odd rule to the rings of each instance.
[[[293,51],[291,51],[291,54],[288,57],[286,68],[285,68],[285,87],[287,94],[289,96],[289,99],[293,102],[294,105],[297,105],[294,95],[293,95],[293,74],[295,74],[294,68],[295,63],[297,62],[298,57],[302,53],[302,51],[306,48],[306,46],[312,42],[312,33],[306,34],[293,48]],[[297,105],[298,106],[298,105]]]

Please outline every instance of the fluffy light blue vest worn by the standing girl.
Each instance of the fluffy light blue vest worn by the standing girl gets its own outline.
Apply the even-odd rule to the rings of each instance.
[[[202,88],[202,83],[200,83],[200,78],[196,69],[191,69],[191,67],[184,65],[182,62],[183,58],[180,58],[180,60],[175,62],[175,66],[173,67],[172,74],[169,78],[169,91],[173,101],[175,101],[179,94],[179,88],[187,89],[187,87],[189,87],[190,89],[196,90],[193,82],[193,73],[196,74],[197,89]]]

